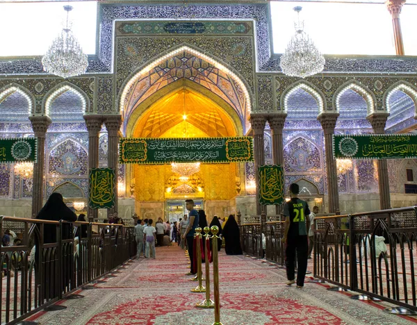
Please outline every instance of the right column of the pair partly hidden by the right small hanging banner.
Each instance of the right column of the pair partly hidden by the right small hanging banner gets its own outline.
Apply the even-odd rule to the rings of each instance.
[[[268,123],[272,135],[272,161],[274,165],[284,165],[284,142],[282,130],[284,129],[286,114],[274,114],[268,116]],[[275,206],[275,213],[281,215],[282,206]]]

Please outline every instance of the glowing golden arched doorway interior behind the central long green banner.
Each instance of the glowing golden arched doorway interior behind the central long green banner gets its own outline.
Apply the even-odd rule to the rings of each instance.
[[[243,135],[240,121],[227,101],[181,79],[136,106],[125,133],[129,138],[235,137]],[[170,165],[131,165],[127,181],[140,215],[179,219],[186,212],[184,200],[194,199],[211,218],[234,210],[231,200],[243,170],[240,163],[202,164],[198,172],[184,176]]]

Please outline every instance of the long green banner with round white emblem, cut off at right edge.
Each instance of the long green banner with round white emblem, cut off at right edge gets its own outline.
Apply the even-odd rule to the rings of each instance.
[[[336,159],[417,158],[417,135],[333,135]]]

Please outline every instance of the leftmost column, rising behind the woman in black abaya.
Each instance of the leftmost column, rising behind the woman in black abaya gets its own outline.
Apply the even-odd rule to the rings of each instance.
[[[38,215],[43,206],[44,170],[45,170],[45,137],[51,119],[47,116],[30,116],[33,133],[38,138],[38,161],[33,164],[33,188],[32,188],[32,216]]]

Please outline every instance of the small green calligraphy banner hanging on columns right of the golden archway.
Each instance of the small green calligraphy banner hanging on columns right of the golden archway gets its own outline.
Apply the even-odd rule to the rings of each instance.
[[[284,203],[284,170],[279,165],[259,166],[259,202],[263,206]]]

